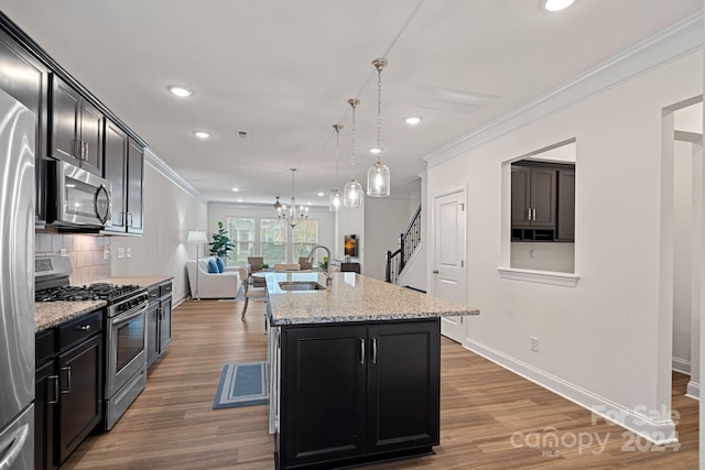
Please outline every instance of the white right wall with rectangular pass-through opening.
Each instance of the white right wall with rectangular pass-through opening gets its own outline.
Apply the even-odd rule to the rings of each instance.
[[[469,348],[560,383],[586,406],[610,403],[637,416],[640,407],[670,409],[670,381],[662,382],[671,369],[671,317],[660,310],[662,109],[702,94],[702,55],[430,166],[429,194],[467,185],[468,200],[478,201],[468,210],[467,298],[480,309],[466,327]],[[572,138],[577,286],[500,278],[502,216],[509,218],[502,163]],[[540,352],[530,350],[531,336]]]

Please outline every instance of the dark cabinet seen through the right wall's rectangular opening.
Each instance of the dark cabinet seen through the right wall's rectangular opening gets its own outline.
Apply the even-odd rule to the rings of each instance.
[[[574,165],[527,161],[511,165],[512,241],[573,241],[568,228],[573,226],[575,198],[562,195],[567,181],[560,184],[561,172],[572,172],[574,194]]]

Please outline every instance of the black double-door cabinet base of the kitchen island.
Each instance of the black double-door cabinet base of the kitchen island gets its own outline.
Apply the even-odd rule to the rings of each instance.
[[[440,439],[437,318],[281,327],[280,470],[431,452]]]

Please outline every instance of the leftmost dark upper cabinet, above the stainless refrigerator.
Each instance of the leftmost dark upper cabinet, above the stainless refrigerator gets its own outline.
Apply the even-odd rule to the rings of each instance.
[[[20,45],[0,24],[0,88],[30,109],[36,119],[35,211],[37,225],[46,220],[44,159],[46,154],[46,109],[48,68]]]

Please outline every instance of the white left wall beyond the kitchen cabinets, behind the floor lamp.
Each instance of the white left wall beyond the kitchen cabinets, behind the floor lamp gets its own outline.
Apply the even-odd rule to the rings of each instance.
[[[206,225],[206,205],[149,164],[143,181],[144,234],[111,237],[112,276],[174,276],[174,304],[188,293],[186,260],[195,247],[186,243],[188,230]],[[118,248],[130,248],[132,258],[118,259]]]

